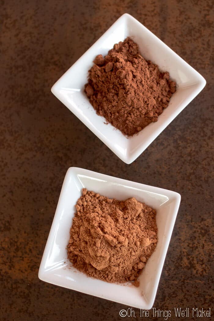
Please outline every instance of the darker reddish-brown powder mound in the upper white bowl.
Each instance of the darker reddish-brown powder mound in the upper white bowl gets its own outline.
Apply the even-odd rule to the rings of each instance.
[[[161,73],[157,65],[145,60],[128,37],[115,44],[107,56],[95,58],[85,92],[98,115],[132,136],[158,120],[175,86],[169,73]]]

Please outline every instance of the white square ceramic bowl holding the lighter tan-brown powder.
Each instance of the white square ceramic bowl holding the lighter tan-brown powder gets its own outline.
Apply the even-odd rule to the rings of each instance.
[[[67,258],[70,228],[81,189],[125,200],[135,197],[157,210],[158,242],[134,287],[93,279],[79,272]],[[181,196],[176,192],[71,167],[64,178],[56,213],[39,268],[39,279],[136,308],[150,309],[174,227]]]

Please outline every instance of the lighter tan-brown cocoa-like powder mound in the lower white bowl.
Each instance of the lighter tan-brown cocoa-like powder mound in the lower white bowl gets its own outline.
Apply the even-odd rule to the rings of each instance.
[[[82,189],[68,244],[68,257],[79,271],[138,286],[137,278],[156,243],[154,209],[134,197],[118,201]]]

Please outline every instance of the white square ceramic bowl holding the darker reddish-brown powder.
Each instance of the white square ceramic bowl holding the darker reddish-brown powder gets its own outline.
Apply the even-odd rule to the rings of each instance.
[[[132,137],[125,137],[105,118],[98,116],[84,93],[88,70],[98,54],[106,56],[115,43],[130,36],[140,48],[141,55],[168,71],[177,83],[177,91],[169,106],[151,123]],[[205,79],[152,32],[129,14],[122,15],[84,55],[53,85],[51,91],[103,143],[125,163],[132,163],[170,122],[195,98],[205,86]]]

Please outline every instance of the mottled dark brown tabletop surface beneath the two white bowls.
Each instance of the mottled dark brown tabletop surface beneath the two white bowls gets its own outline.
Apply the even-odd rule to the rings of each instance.
[[[154,306],[211,307],[212,1],[148,3],[1,3],[1,321],[122,319],[121,304],[38,279],[70,166],[179,192],[182,202]],[[131,165],[119,160],[50,92],[124,12],[207,80],[205,89]],[[135,311],[135,320],[140,320]]]

